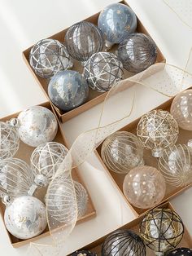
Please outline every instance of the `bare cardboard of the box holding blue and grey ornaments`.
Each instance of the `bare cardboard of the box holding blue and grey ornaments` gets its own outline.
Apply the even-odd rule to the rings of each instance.
[[[121,1],[121,3],[124,3],[125,5],[128,5],[126,1]],[[87,18],[85,20],[89,21],[89,22],[92,22],[93,24],[97,25],[98,24],[98,15],[99,15],[99,12],[96,13],[95,15],[90,16],[89,18]],[[56,33],[56,34],[50,36],[50,38],[57,39],[60,42],[63,42],[65,33],[67,33],[67,31],[68,31],[68,29],[64,29],[63,31],[60,31],[59,33]],[[137,18],[137,32],[145,33],[146,35],[149,35],[149,33],[146,31],[146,29],[142,25],[142,22],[138,18]],[[28,62],[28,56],[29,56],[29,53],[30,53],[30,50],[31,50],[32,47],[33,46],[29,47],[27,50],[25,50],[23,52],[24,61],[28,65],[28,68],[33,73],[33,76],[37,79],[37,82],[41,86],[41,89],[43,90],[47,99],[49,99],[49,96],[47,94],[49,79],[38,77],[36,75],[36,73],[34,73],[33,68],[31,68],[31,66]],[[157,55],[156,63],[165,62],[164,55],[161,53],[161,51],[159,50],[158,47],[157,47],[157,50],[158,50],[158,55]],[[113,46],[111,51],[112,52],[116,51],[116,46]],[[80,73],[82,73],[82,71],[83,71],[83,68],[82,68],[81,64],[78,61],[74,62],[74,67],[72,69],[74,69],[76,71],[79,71]],[[124,78],[132,77],[132,76],[133,76],[133,73],[129,73],[128,71],[124,70]],[[74,108],[74,109],[72,109],[71,111],[69,111],[67,113],[64,113],[63,111],[59,110],[59,108],[54,106],[55,107],[55,112],[57,113],[60,121],[62,121],[62,122],[68,121],[72,117],[76,117],[80,113],[83,113],[86,110],[88,110],[89,108],[93,108],[95,105],[100,104],[101,102],[103,102],[106,95],[107,95],[107,92],[99,93],[99,92],[89,88],[89,98],[87,99],[85,104],[82,104],[81,106],[79,106],[77,108]]]

